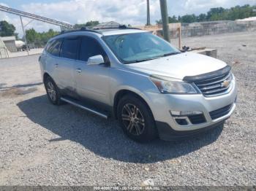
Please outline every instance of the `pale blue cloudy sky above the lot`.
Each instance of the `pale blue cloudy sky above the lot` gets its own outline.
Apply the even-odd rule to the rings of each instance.
[[[116,21],[132,26],[146,23],[146,0],[0,0],[0,4],[31,12],[44,17],[50,17],[67,23],[86,23],[89,20],[99,22]],[[256,5],[256,0],[167,0],[169,15],[199,15],[206,13],[212,7],[230,8],[236,5]],[[151,23],[159,20],[159,0],[150,0]],[[18,32],[22,34],[20,18],[0,12],[0,20],[12,23]],[[29,23],[31,19],[23,18],[23,23]],[[26,29],[34,28],[37,31],[48,31],[49,28],[60,30],[39,21],[32,21]]]

